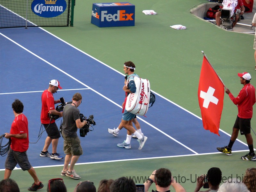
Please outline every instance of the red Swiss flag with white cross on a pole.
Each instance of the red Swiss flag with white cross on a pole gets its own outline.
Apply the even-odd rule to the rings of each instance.
[[[204,129],[218,135],[223,99],[224,85],[204,56],[198,85],[198,102]]]

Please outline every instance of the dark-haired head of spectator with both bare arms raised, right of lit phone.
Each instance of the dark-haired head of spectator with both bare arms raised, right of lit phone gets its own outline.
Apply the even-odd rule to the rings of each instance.
[[[156,170],[155,183],[159,187],[166,188],[172,183],[172,173],[169,169],[160,168]]]

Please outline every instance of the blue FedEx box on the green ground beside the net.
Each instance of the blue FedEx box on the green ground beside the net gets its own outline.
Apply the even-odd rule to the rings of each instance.
[[[91,23],[98,27],[134,26],[135,5],[128,2],[92,4]]]

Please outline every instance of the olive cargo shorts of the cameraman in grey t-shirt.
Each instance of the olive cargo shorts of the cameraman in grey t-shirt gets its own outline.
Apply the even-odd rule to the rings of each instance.
[[[63,151],[66,155],[83,155],[83,149],[78,137],[65,137],[63,135]]]

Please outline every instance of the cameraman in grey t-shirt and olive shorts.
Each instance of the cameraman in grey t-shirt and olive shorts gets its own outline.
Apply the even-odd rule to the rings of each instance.
[[[62,136],[64,139],[63,150],[66,154],[63,170],[61,176],[68,176],[73,179],[80,179],[81,177],[76,174],[74,166],[80,155],[83,155],[83,149],[80,140],[76,134],[77,128],[84,127],[87,121],[81,122],[80,111],[78,106],[82,103],[82,95],[75,93],[72,98],[72,104],[67,104],[63,109],[63,123],[62,123]],[[68,164],[70,166],[68,168]]]

